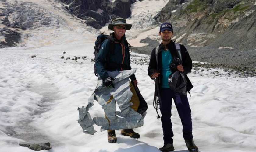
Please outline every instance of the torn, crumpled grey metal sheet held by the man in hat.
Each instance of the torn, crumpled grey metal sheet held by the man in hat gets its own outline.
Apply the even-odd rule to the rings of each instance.
[[[84,133],[93,135],[96,132],[93,127],[94,124],[101,126],[101,131],[130,129],[143,126],[143,117],[130,107],[133,103],[129,102],[132,96],[129,86],[129,76],[134,74],[136,70],[107,72],[110,77],[115,78],[113,81],[115,88],[105,87],[102,79],[99,79],[94,93],[88,100],[87,106],[82,107],[81,109],[79,108],[78,123],[83,128]],[[111,95],[113,95],[114,99],[107,103]],[[102,106],[108,119],[103,117],[91,118],[88,111],[89,108],[93,106],[94,100],[97,100]],[[116,111],[115,101],[118,104],[120,111]]]

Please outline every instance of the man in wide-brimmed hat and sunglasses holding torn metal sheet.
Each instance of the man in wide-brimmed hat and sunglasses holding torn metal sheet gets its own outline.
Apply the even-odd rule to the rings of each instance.
[[[130,30],[132,27],[131,24],[127,24],[126,20],[123,18],[116,18],[112,22],[112,24],[108,25],[108,29],[113,30],[114,32],[110,34],[114,38],[114,50],[112,53],[108,53],[110,41],[106,39],[97,54],[95,66],[98,71],[98,76],[104,81],[106,87],[114,87],[112,81],[113,78],[109,77],[107,71],[123,71],[130,70],[130,52],[128,43],[125,38],[125,31]],[[108,62],[106,62],[108,60]],[[133,81],[134,85],[137,86],[138,82],[136,80],[135,75],[131,75],[129,77],[131,81]],[[133,93],[130,102],[133,103],[131,108],[137,111],[140,101],[136,94],[136,91],[133,85],[130,83],[130,90]],[[113,96],[110,97],[107,103],[111,102]],[[106,119],[108,119],[106,117]],[[109,121],[109,120],[108,120]],[[140,138],[140,134],[133,131],[133,129],[123,129],[121,130],[121,134],[124,136],[130,136],[132,138]],[[108,130],[108,142],[116,143],[116,133],[115,130]]]

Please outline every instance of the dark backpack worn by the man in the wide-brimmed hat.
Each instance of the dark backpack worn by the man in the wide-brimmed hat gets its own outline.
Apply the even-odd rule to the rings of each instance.
[[[108,39],[109,40],[109,50],[108,51],[108,54],[107,54],[107,58],[106,58],[106,62],[109,62],[108,61],[108,56],[111,52],[113,52],[114,50],[114,38],[112,36],[109,36],[109,35],[106,35],[106,34],[103,34],[101,33],[100,35],[97,36],[97,40],[95,41],[95,46],[94,46],[94,61],[96,60],[96,57],[97,57],[97,54],[99,53],[99,50],[101,48],[101,45],[102,43]],[[106,64],[106,63],[105,63]],[[96,66],[94,64],[94,74],[96,76],[98,76],[98,72],[97,72],[97,69],[96,69]]]

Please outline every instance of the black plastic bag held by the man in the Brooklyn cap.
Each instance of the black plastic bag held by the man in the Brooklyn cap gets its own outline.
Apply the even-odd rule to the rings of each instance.
[[[168,78],[169,88],[173,91],[178,92],[180,95],[187,95],[187,80],[185,74],[180,71],[175,71]]]

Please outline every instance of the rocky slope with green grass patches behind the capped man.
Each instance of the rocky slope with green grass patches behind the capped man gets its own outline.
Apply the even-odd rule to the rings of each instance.
[[[169,0],[155,17],[185,34],[179,43],[238,50],[256,49],[255,18],[255,0]]]

